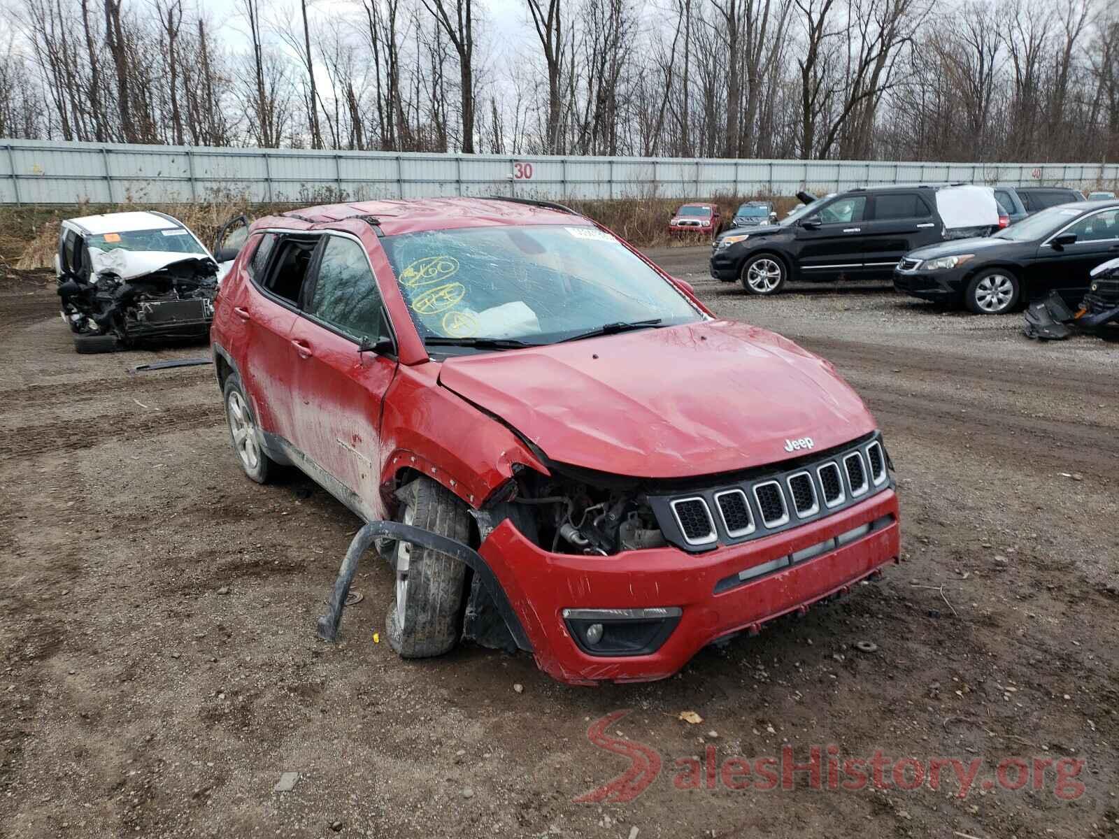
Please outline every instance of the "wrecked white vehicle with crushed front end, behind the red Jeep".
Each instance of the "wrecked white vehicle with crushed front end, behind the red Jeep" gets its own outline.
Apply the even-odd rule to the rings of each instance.
[[[163,213],[109,213],[62,223],[55,274],[63,320],[82,353],[204,340],[224,273],[214,254]]]

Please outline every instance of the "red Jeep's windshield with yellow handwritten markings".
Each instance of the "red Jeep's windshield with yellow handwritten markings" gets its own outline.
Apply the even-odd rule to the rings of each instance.
[[[703,319],[670,282],[593,227],[429,230],[380,244],[425,341],[539,345],[605,324]]]

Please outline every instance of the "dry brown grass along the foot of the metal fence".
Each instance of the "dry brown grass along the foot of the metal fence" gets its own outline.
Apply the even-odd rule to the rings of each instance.
[[[764,196],[718,195],[697,200],[718,204],[723,217],[730,219],[740,204]],[[771,198],[778,213],[796,204],[792,198]],[[657,245],[694,245],[694,237],[669,237],[668,219],[685,201],[670,198],[629,198],[618,200],[568,200],[565,201],[590,218],[605,225],[622,238],[641,247]],[[138,209],[154,209],[180,219],[207,245],[211,244],[218,228],[233,216],[242,213],[260,217],[293,209],[297,205],[250,204],[238,198],[224,198],[198,204],[144,205],[120,204],[93,206],[82,204],[70,207],[7,207],[0,208],[0,260],[23,271],[49,268],[58,247],[58,224],[64,218],[88,216],[96,213],[123,213]],[[302,205],[299,205],[302,206]]]

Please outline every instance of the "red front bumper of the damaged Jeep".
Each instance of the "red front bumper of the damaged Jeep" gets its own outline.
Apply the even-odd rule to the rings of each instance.
[[[749,573],[830,539],[843,544],[770,573]],[[834,516],[703,554],[674,547],[614,556],[553,554],[508,520],[479,553],[501,583],[537,664],[560,681],[593,685],[668,678],[720,638],[756,632],[767,621],[846,593],[896,562],[900,541],[897,497],[887,489]],[[645,654],[592,654],[573,638],[579,630],[572,615],[586,613],[571,610],[659,610],[659,620],[671,625]]]

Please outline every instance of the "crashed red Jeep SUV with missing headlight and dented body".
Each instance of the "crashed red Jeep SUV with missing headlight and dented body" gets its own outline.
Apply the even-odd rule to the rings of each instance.
[[[661,679],[899,556],[881,435],[831,365],[558,205],[260,219],[213,346],[245,473],[294,464],[368,522],[333,630],[383,537],[405,658],[466,638],[566,682]]]

